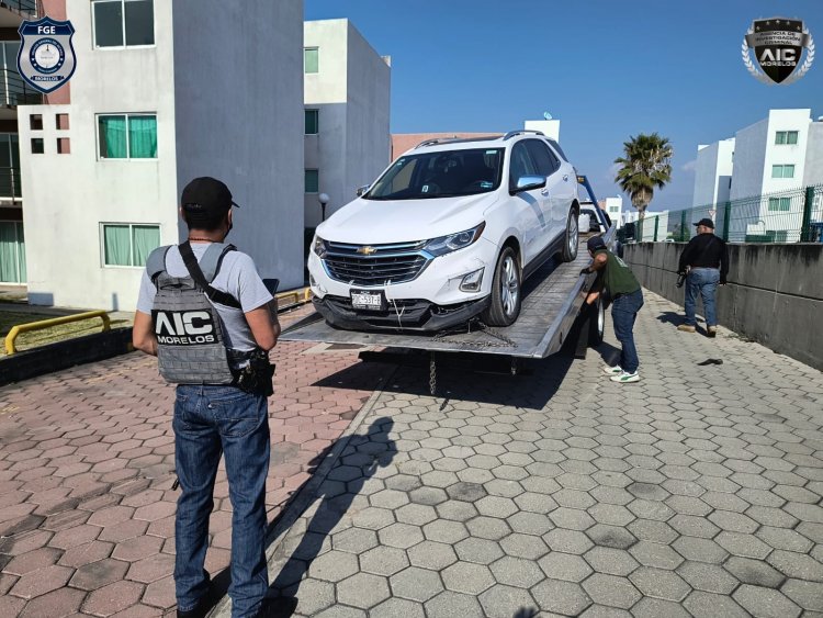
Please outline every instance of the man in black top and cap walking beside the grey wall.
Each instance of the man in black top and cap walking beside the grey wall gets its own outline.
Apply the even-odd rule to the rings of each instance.
[[[685,333],[694,333],[697,329],[695,306],[697,296],[700,295],[706,313],[706,332],[709,337],[714,337],[718,334],[714,292],[718,284],[725,285],[725,277],[729,273],[729,250],[725,243],[714,236],[714,223],[710,218],[701,218],[695,225],[697,236],[686,245],[677,269],[679,273],[687,273],[686,324],[681,324],[677,329]]]

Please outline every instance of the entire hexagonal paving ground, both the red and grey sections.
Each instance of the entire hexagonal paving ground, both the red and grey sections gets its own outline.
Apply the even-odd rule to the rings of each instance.
[[[523,375],[443,370],[438,397],[420,369],[279,346],[270,517],[317,491],[286,508],[272,594],[326,618],[823,616],[823,375],[677,312],[646,293],[628,385],[600,373],[610,332]],[[158,383],[132,355],[0,389],[0,617],[173,610]],[[215,508],[213,574],[225,481]]]

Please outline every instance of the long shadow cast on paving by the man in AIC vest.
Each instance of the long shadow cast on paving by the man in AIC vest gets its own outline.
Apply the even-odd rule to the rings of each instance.
[[[300,584],[308,572],[308,568],[323,550],[326,538],[340,523],[348,512],[354,497],[363,485],[376,472],[377,468],[388,465],[397,453],[394,440],[388,438],[394,422],[388,417],[374,420],[365,435],[351,435],[348,443],[340,453],[340,461],[329,472],[331,479],[323,481],[319,487],[322,496],[300,544],[292,551],[289,561],[278,573],[277,578],[269,586],[270,616],[278,618],[291,616],[296,608],[296,597]],[[340,465],[352,469],[349,474],[335,475]],[[356,474],[359,475],[356,476]],[[347,470],[349,472],[349,470]],[[345,482],[345,490],[340,493],[340,479],[353,476]],[[312,501],[315,502],[315,501]],[[295,519],[302,514],[295,516]]]

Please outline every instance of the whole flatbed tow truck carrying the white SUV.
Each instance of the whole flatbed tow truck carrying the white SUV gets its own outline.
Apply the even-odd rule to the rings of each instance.
[[[575,356],[584,358],[587,346],[602,339],[605,323],[605,311],[599,302],[595,310],[580,315],[583,301],[595,281],[594,276],[580,276],[580,270],[591,261],[585,241],[599,234],[607,246],[612,247],[616,227],[597,206],[586,177],[578,176],[577,181],[591,198],[580,204],[579,222],[585,224],[588,220],[589,227],[580,229],[577,258],[565,263],[552,258],[526,280],[520,315],[510,326],[492,328],[473,321],[433,335],[402,330],[374,333],[335,328],[315,313],[286,328],[280,339],[383,348],[382,351],[360,352],[364,361],[403,362],[419,359],[419,353],[415,357],[414,351],[428,352],[432,395],[437,390],[438,360],[455,356],[455,352],[499,357],[509,363],[512,374],[517,373],[522,359],[546,358],[564,345],[574,345]]]

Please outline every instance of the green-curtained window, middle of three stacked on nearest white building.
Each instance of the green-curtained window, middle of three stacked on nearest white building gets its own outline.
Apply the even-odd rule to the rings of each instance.
[[[157,116],[99,115],[98,143],[101,159],[156,159]]]

